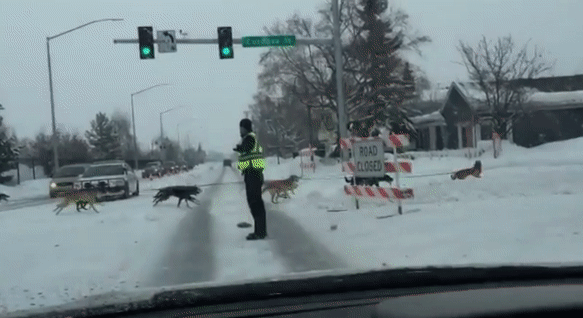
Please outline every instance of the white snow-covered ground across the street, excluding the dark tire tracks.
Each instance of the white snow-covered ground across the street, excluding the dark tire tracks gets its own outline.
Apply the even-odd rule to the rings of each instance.
[[[413,174],[401,178],[402,187],[415,191],[414,199],[403,202],[404,215],[397,214],[396,203],[378,201],[361,201],[356,210],[354,199],[343,192],[337,164],[318,165],[315,174],[306,173],[292,199],[278,205],[268,195],[264,200],[268,218],[272,223],[277,218],[274,225],[285,230],[286,222],[297,223],[306,240],[324,246],[351,269],[580,262],[581,153],[583,138],[533,149],[504,144],[502,157],[486,153],[480,158],[483,178],[463,181],[451,180],[448,173],[472,166],[475,159],[413,160]],[[281,160],[280,165],[269,158],[265,177],[300,175],[298,165],[298,158]],[[1,212],[0,316],[3,309],[139,289],[156,270],[152,260],[171,248],[173,233],[193,212],[177,209],[175,200],[152,207],[149,189],[213,183],[221,170],[220,163],[208,163],[179,176],[141,181],[140,197],[106,202],[98,207],[99,214],[70,208],[55,217],[54,203]],[[205,188],[200,197],[210,202],[212,280],[236,282],[292,272],[289,258],[282,256],[289,249],[282,248],[284,242],[248,242],[244,237],[250,229],[235,227],[251,221],[240,180],[235,172],[225,171],[226,184]],[[337,230],[331,225],[338,225]]]

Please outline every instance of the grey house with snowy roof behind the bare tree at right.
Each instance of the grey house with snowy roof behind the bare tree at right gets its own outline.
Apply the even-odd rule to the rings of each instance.
[[[529,93],[523,105],[509,110],[524,116],[508,123],[505,139],[532,147],[583,136],[583,75],[521,79],[515,83]],[[478,141],[492,139],[485,94],[477,84],[454,81],[447,88],[429,93],[411,105],[425,110],[411,117],[418,130],[417,149],[475,148]]]

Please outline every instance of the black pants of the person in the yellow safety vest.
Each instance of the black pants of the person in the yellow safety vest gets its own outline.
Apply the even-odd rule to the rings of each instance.
[[[245,190],[247,191],[247,203],[251,209],[251,215],[255,221],[255,234],[259,236],[267,235],[267,224],[265,220],[265,205],[261,198],[261,186],[263,185],[263,172],[261,170],[245,171]]]

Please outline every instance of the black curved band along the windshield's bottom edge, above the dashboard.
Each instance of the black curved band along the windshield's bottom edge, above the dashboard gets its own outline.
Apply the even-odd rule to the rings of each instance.
[[[306,293],[385,288],[415,288],[484,283],[492,279],[557,279],[583,275],[581,262],[561,264],[468,264],[458,266],[419,266],[388,269],[322,270],[290,273],[262,279],[230,282],[181,284],[168,287],[112,291],[62,305],[20,310],[6,317],[63,317],[86,314],[122,314],[130,311],[179,309],[185,306],[225,304],[243,300],[294,297]],[[315,287],[317,286],[317,288]],[[253,291],[250,293],[249,291]]]

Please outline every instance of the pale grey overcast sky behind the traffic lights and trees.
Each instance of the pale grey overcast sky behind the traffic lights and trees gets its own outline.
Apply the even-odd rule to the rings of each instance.
[[[60,129],[83,133],[97,112],[131,114],[135,96],[136,131],[143,148],[160,134],[229,151],[239,140],[238,122],[257,88],[259,55],[264,49],[236,45],[233,60],[220,60],[216,45],[178,45],[177,53],[140,60],[137,44],[113,44],[137,38],[138,26],[188,32],[190,38],[215,38],[218,26],[233,36],[263,35],[262,28],[294,12],[316,18],[318,0],[190,1],[24,1],[0,0],[0,104],[5,123],[17,136],[51,132],[46,37],[96,19],[102,22],[51,40],[56,121]],[[512,34],[519,44],[532,39],[556,66],[551,75],[583,74],[583,1],[580,0],[393,0],[412,28],[432,38],[423,56],[411,55],[434,83],[466,79],[455,47],[477,43],[482,34]]]

